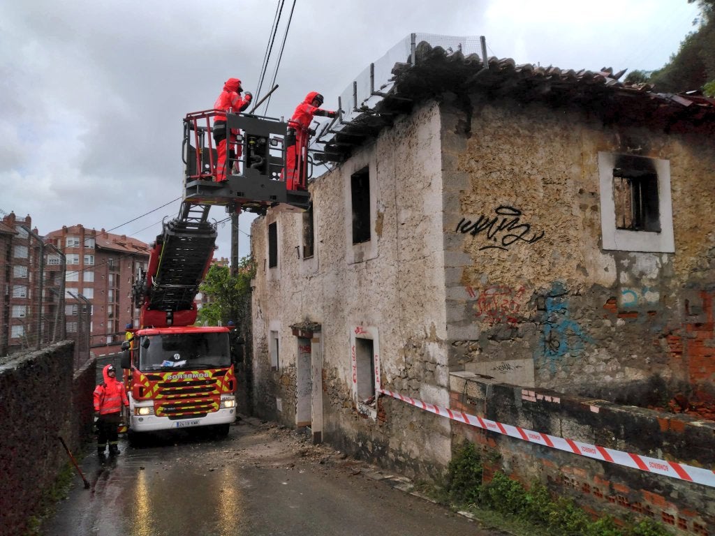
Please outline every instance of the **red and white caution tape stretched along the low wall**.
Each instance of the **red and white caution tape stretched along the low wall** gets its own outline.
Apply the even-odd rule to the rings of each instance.
[[[435,413],[440,417],[448,417],[451,420],[464,422],[483,430],[496,432],[498,434],[515,437],[518,440],[538,443],[552,449],[564,450],[573,454],[586,456],[595,460],[615,463],[641,471],[648,471],[663,475],[664,477],[677,478],[688,482],[695,482],[710,487],[715,487],[715,471],[702,469],[701,467],[693,467],[678,462],[668,462],[648,456],[631,454],[630,452],[621,452],[620,450],[607,449],[606,447],[598,447],[598,445],[589,445],[580,441],[567,440],[563,437],[555,435],[543,434],[541,432],[533,432],[513,425],[505,425],[501,422],[495,422],[483,417],[475,417],[465,412],[452,411],[445,407],[438,407],[433,404],[427,404],[422,400],[415,400],[410,397],[405,397],[400,393],[379,389],[379,392],[387,394],[390,397],[407,402],[422,410]]]

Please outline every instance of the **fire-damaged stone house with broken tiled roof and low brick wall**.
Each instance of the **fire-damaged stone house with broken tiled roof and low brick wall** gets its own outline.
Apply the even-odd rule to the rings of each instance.
[[[253,223],[255,410],[413,477],[474,441],[595,512],[714,533],[714,487],[603,451],[715,467],[714,99],[462,43],[388,55],[319,134],[312,209]]]

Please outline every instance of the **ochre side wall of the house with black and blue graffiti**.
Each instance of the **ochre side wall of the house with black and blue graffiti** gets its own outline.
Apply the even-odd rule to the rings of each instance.
[[[453,369],[639,404],[712,400],[711,142],[508,99],[442,109]],[[669,161],[674,254],[601,249],[598,152]]]

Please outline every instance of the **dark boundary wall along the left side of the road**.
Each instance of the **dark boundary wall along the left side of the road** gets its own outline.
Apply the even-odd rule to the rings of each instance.
[[[24,532],[69,462],[57,436],[76,457],[89,437],[94,362],[74,374],[73,352],[60,342],[0,367],[0,536]]]

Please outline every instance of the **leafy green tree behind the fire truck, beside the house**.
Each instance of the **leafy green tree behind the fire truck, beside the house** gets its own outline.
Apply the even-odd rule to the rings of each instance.
[[[198,320],[209,326],[227,324],[229,320],[245,321],[245,311],[250,310],[251,279],[255,266],[250,257],[243,257],[236,275],[228,267],[213,265],[199,286],[199,291],[211,300],[199,309]]]

